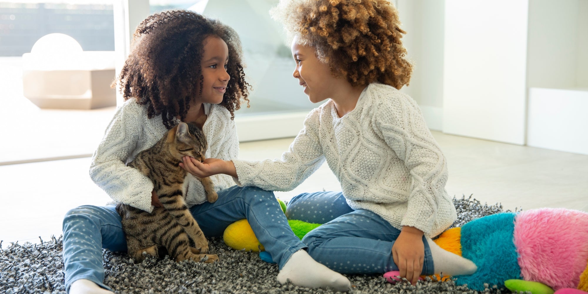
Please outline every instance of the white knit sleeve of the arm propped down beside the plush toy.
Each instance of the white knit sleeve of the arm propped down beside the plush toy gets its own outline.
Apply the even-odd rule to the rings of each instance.
[[[411,184],[402,226],[412,226],[429,235],[443,201],[447,163],[427,128],[417,103],[400,92],[379,97],[372,125],[410,172]]]

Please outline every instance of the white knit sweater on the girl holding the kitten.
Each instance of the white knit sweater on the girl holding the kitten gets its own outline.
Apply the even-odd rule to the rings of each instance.
[[[235,121],[230,112],[221,105],[203,104],[208,114],[203,132],[208,141],[206,158],[236,159],[239,155],[239,141]],[[135,156],[153,146],[168,129],[163,126],[161,115],[147,118],[147,106],[129,99],[119,108],[106,128],[104,138],[92,157],[90,177],[115,202],[125,203],[143,211],[151,212],[151,191],[153,183],[134,168],[126,166]],[[206,201],[202,183],[192,175],[188,176],[188,206]],[[233,186],[228,175],[211,177],[216,191]]]

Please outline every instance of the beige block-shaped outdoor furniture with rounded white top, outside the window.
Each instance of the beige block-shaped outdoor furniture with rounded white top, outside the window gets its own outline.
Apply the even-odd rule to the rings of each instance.
[[[82,51],[75,39],[49,34],[22,55],[24,96],[39,108],[116,105],[114,51]]]

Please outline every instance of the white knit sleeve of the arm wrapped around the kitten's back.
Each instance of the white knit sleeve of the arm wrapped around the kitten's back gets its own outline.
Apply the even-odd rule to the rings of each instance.
[[[153,183],[137,169],[125,165],[139,141],[141,114],[141,108],[133,101],[116,111],[92,156],[90,178],[115,202],[151,212]]]

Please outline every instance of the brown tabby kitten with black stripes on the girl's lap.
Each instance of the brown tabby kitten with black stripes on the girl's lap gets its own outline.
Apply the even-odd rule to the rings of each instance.
[[[185,188],[188,183],[179,162],[182,156],[192,156],[203,161],[207,143],[202,133],[206,116],[196,125],[179,123],[151,148],[141,151],[128,164],[147,176],[155,186],[155,192],[163,208],[155,208],[152,213],[119,203],[116,211],[122,217],[122,229],[126,236],[128,253],[136,262],[145,259],[143,252],[158,256],[159,247],[165,247],[176,261],[208,257],[206,263],[218,260],[216,255],[206,255],[208,242],[202,230],[188,210]],[[198,178],[206,191],[209,202],[215,202],[218,195],[210,178]],[[196,248],[190,247],[192,239]]]

